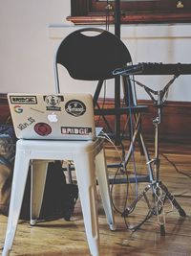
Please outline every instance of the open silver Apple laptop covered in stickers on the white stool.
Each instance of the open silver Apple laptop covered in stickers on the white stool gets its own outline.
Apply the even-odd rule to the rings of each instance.
[[[91,94],[9,93],[8,101],[18,139],[94,140]]]

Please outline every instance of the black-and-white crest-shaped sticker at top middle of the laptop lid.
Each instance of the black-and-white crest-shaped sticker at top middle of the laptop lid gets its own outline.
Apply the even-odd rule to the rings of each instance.
[[[61,95],[47,95],[44,96],[44,101],[47,104],[47,110],[61,111],[60,102],[64,101],[64,97]]]

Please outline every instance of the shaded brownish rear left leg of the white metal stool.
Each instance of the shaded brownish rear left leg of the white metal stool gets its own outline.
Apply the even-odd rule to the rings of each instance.
[[[35,225],[40,215],[49,162],[32,160],[31,225]]]

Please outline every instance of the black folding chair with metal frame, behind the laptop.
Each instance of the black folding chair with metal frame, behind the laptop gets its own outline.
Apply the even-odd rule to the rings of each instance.
[[[115,69],[132,64],[131,55],[125,44],[116,35],[98,28],[76,30],[65,37],[58,46],[54,58],[55,85],[56,91],[59,93],[58,64],[64,66],[74,80],[97,81],[94,95],[95,115],[102,116],[109,130],[108,133],[111,137],[116,136],[117,141],[121,131],[120,116],[128,115],[130,109],[133,111],[136,130],[131,136],[132,145],[138,138],[140,151],[149,161],[149,155],[140,132],[140,112],[147,110],[147,106],[138,105],[135,86],[129,77],[122,77],[124,101],[121,103],[120,77],[115,77],[113,74]],[[111,79],[115,79],[115,107],[105,109],[98,105],[98,98],[103,82]],[[115,116],[115,131],[111,128],[106,118],[107,115]],[[127,154],[127,162],[130,154]]]

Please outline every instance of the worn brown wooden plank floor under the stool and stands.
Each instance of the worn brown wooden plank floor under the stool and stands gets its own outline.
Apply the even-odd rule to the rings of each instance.
[[[148,150],[153,157],[154,146],[151,143],[148,144]],[[163,207],[164,213],[161,213],[159,218],[154,215],[137,231],[133,231],[131,228],[143,221],[148,213],[146,200],[142,198],[138,201],[135,211],[126,220],[117,211],[124,211],[126,199],[127,205],[130,206],[135,201],[136,191],[140,195],[148,183],[129,184],[128,193],[126,184],[114,185],[112,195],[115,207],[117,207],[115,211],[116,231],[109,230],[98,195],[102,256],[191,255],[191,146],[163,143],[160,144],[160,152],[160,180],[178,200],[187,216],[180,217],[172,203],[166,200]],[[111,146],[107,147],[107,160],[108,162],[120,161],[118,152]],[[128,175],[134,174],[135,169],[138,175],[147,175],[144,156],[139,154],[138,149],[135,152],[135,160],[136,164],[132,160],[128,164]],[[109,170],[111,176],[116,172],[114,168]],[[120,175],[126,176],[121,173]],[[153,205],[151,190],[146,193],[146,196],[149,203]],[[163,221],[165,221],[165,236],[160,234],[159,228],[159,223]],[[0,247],[4,243],[6,223],[7,218],[0,216]],[[72,221],[41,222],[34,227],[31,227],[28,222],[20,221],[11,255],[90,255],[79,199]]]

